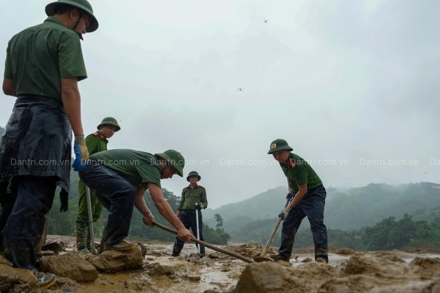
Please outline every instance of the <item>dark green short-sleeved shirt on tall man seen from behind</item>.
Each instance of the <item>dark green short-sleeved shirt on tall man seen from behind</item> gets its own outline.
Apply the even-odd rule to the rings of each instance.
[[[8,43],[4,78],[15,83],[17,95],[46,96],[61,100],[61,79],[87,78],[78,32],[58,19],[16,34]]]

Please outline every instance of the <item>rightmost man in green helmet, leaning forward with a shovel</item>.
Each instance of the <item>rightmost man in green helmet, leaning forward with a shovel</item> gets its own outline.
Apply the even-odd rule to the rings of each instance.
[[[286,140],[276,139],[270,143],[268,154],[280,163],[287,178],[286,199],[290,202],[278,217],[283,221],[281,246],[277,254],[270,254],[275,261],[289,261],[292,254],[295,234],[302,220],[307,217],[315,244],[315,260],[329,262],[327,228],[324,225],[326,189],[315,170],[299,155],[292,153]]]

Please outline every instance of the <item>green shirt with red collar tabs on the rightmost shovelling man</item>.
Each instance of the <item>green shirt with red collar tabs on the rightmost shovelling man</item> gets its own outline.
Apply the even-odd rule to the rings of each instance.
[[[322,181],[315,170],[297,154],[289,153],[287,165],[280,163],[280,166],[289,181],[289,188],[293,188],[295,193],[298,192],[298,185],[307,183],[307,189],[322,185]]]

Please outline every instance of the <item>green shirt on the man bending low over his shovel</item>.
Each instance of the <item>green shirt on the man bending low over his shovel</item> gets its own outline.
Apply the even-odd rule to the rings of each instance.
[[[161,188],[159,160],[151,153],[119,148],[100,151],[89,158],[116,171],[136,188],[139,185],[147,188],[147,183]]]

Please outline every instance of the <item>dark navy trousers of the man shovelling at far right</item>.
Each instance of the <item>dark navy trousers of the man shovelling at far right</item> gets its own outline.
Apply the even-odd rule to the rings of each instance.
[[[278,251],[286,259],[290,259],[293,242],[301,222],[307,216],[315,244],[315,259],[324,258],[327,262],[327,227],[324,225],[324,206],[326,189],[323,186],[310,189],[298,205],[287,214],[281,230],[281,246]]]

